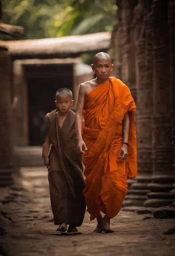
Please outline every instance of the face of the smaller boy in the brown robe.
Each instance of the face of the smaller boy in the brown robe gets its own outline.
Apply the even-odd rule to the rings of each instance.
[[[55,104],[59,112],[66,113],[69,112],[70,108],[72,107],[73,100],[69,95],[59,94],[56,96]]]

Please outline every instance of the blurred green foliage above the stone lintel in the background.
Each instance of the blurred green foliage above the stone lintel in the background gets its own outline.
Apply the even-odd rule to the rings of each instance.
[[[20,25],[25,38],[111,31],[115,0],[2,0],[3,22]]]

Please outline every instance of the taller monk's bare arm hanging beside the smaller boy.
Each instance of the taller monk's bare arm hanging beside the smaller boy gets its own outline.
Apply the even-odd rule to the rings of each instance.
[[[82,139],[82,122],[83,122],[83,108],[85,105],[85,95],[86,95],[85,89],[83,85],[80,85],[76,114],[75,114],[75,131],[76,131],[76,137],[78,139],[78,150],[81,153],[85,153],[85,151],[87,150],[85,142]]]

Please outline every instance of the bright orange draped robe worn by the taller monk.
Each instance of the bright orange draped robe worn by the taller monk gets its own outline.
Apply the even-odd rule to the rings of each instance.
[[[86,95],[82,135],[88,153],[83,154],[86,177],[83,194],[91,220],[101,211],[110,219],[116,216],[127,192],[127,178],[137,176],[134,111],[130,90],[115,77],[109,77]],[[119,162],[126,112],[130,117],[130,146],[127,160]]]

